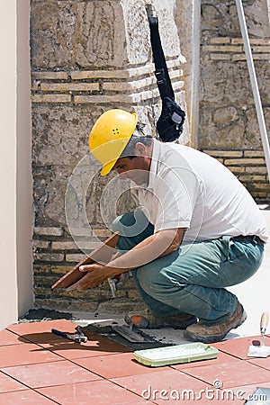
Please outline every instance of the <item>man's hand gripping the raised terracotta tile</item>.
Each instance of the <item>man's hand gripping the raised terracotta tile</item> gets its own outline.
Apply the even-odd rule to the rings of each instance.
[[[113,273],[115,273],[115,268],[100,265],[98,263],[80,266],[79,270],[86,273],[86,275],[75,284],[70,285],[67,288],[67,291],[84,291],[88,288],[94,288],[97,285],[102,284],[108,277],[111,277]]]

